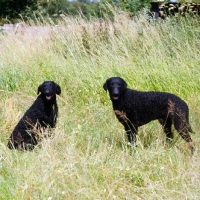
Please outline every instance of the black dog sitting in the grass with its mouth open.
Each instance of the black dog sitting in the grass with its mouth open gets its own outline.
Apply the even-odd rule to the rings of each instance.
[[[32,150],[38,143],[35,129],[54,128],[58,115],[56,94],[61,93],[60,86],[53,81],[45,81],[38,87],[41,93],[33,105],[26,111],[12,132],[8,148]],[[39,130],[41,132],[41,130]]]

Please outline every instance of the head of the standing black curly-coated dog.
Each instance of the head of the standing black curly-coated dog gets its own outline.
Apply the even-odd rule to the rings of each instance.
[[[121,94],[127,88],[127,83],[124,81],[124,79],[120,77],[111,77],[106,80],[106,82],[103,85],[103,88],[105,91],[108,90],[110,99],[112,101],[117,101],[119,100]]]

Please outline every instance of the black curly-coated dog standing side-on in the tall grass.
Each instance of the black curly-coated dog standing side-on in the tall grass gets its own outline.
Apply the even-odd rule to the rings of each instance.
[[[152,120],[158,120],[163,126],[167,140],[173,139],[171,126],[193,149],[189,132],[189,110],[187,104],[178,96],[166,92],[140,92],[127,88],[127,83],[120,77],[112,77],[103,85],[109,91],[113,110],[118,120],[124,125],[129,142],[136,142],[138,127]]]

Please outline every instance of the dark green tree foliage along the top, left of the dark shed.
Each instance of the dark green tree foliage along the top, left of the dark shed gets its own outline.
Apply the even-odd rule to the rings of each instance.
[[[10,21],[22,16],[34,18],[35,16],[58,18],[60,14],[83,15],[84,17],[103,17],[103,13],[111,15],[105,4],[110,3],[118,10],[126,10],[132,15],[143,7],[149,5],[150,0],[0,0],[0,17]]]

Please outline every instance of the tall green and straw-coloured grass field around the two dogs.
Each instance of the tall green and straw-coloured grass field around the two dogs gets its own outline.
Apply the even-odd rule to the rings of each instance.
[[[0,36],[0,199],[200,199],[200,21],[114,21],[63,17],[66,30],[43,22],[45,36]],[[111,76],[184,99],[194,155],[177,132],[165,147],[156,121],[139,129],[131,153],[102,87]],[[44,80],[62,88],[54,133],[32,152],[11,151],[7,139]]]

